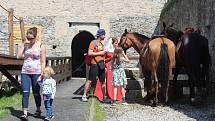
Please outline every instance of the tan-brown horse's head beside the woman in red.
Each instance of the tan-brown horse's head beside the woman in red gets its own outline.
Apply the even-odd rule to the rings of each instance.
[[[132,40],[131,40],[131,33],[125,29],[125,32],[122,34],[120,41],[119,41],[119,46],[122,47],[123,50],[127,50],[130,47],[132,47]]]

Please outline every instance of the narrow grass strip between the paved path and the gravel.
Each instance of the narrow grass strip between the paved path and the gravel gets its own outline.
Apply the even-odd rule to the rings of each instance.
[[[93,121],[103,121],[104,120],[104,112],[102,110],[102,107],[100,105],[100,102],[94,98],[94,115],[93,115]]]

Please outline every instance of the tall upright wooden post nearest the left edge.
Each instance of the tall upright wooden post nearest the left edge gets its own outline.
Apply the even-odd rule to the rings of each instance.
[[[8,14],[8,32],[9,32],[9,55],[14,55],[14,47],[13,47],[13,8],[10,8]]]

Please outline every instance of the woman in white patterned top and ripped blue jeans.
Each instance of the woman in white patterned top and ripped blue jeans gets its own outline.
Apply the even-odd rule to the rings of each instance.
[[[33,27],[28,29],[26,38],[29,43],[25,43],[18,51],[17,57],[24,58],[24,63],[21,72],[21,85],[22,85],[22,108],[23,115],[20,117],[23,120],[27,120],[28,104],[30,87],[34,94],[36,103],[36,112],[34,116],[40,116],[41,114],[41,96],[40,86],[37,83],[39,76],[41,75],[46,62],[46,51],[44,45],[37,41],[37,28]]]

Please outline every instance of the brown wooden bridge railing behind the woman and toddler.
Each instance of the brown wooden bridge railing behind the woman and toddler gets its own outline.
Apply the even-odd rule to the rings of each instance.
[[[55,75],[53,78],[60,83],[65,80],[69,80],[72,75],[72,58],[71,57],[48,57],[46,65],[51,66]],[[14,56],[1,55],[0,54],[0,71],[5,75],[12,84],[21,89],[20,81],[18,77],[21,74],[21,68],[23,59],[17,59]]]

